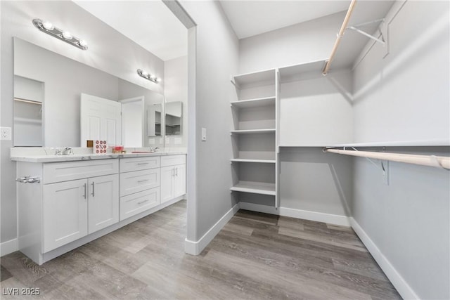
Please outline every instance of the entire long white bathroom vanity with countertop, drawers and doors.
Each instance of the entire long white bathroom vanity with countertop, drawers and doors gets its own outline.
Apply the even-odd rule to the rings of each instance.
[[[18,248],[41,265],[186,195],[186,152],[23,155]]]

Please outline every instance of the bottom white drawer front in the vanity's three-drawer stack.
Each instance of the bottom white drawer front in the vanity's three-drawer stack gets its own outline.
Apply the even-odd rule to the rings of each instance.
[[[120,197],[120,221],[160,204],[160,188]]]

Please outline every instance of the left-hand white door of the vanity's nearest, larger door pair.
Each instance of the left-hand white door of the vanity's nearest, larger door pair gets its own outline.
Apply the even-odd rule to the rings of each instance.
[[[44,253],[87,235],[87,193],[86,179],[43,185]]]

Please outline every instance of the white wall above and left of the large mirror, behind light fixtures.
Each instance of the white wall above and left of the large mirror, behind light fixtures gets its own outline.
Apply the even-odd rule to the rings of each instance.
[[[105,9],[107,5],[105,3]],[[71,1],[0,1],[0,13],[1,126],[13,126],[13,37],[30,41],[147,89],[160,93],[164,91],[164,82],[154,84],[136,76],[136,69],[140,67],[152,70],[158,77],[164,77],[162,60],[115,32]],[[86,39],[89,50],[81,51],[39,32],[32,25],[33,18],[46,18],[56,26]],[[17,231],[15,164],[9,159],[9,149],[12,145],[12,141],[1,141],[0,242],[15,239]]]

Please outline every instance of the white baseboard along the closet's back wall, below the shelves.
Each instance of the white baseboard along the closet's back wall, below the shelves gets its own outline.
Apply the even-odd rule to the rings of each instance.
[[[338,214],[324,214],[316,211],[306,211],[302,209],[290,209],[288,207],[269,207],[267,205],[253,204],[248,202],[239,202],[241,209],[263,212],[265,214],[277,214],[279,216],[290,216],[291,218],[317,221],[339,226],[350,226],[349,217]]]

